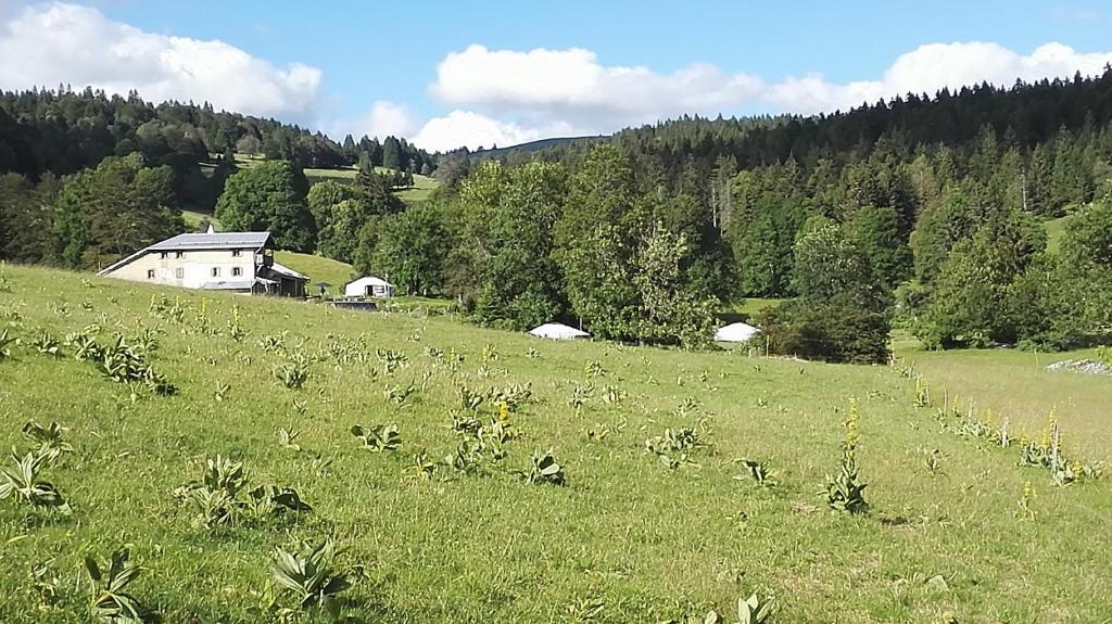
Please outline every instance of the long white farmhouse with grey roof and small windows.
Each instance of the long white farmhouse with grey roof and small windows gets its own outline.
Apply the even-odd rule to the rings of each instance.
[[[274,261],[270,232],[178,234],[98,275],[187,289],[305,296],[308,278]]]

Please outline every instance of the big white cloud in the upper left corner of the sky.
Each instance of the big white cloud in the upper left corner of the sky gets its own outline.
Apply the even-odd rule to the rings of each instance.
[[[0,88],[136,89],[148,100],[208,101],[257,115],[306,117],[320,70],[277,68],[222,41],[145,32],[91,7],[27,7],[0,24]]]

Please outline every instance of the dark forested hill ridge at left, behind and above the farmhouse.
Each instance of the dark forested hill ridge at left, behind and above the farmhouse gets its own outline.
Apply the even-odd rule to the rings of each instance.
[[[428,174],[436,167],[431,154],[405,139],[348,135],[338,143],[274,119],[216,111],[207,102],[153,104],[135,91],[123,98],[90,88],[0,91],[0,172],[64,175],[137,151],[148,164],[169,164],[181,179],[209,154],[232,151],[311,168],[363,161]]]

